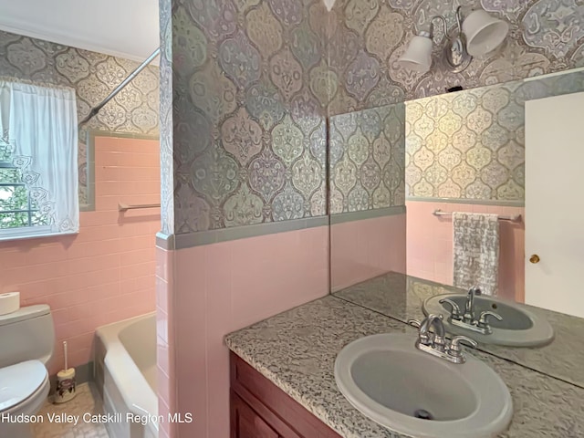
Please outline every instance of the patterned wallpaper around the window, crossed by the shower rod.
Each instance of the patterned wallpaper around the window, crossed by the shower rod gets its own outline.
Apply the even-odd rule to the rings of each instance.
[[[0,76],[76,89],[79,121],[136,67],[128,59],[0,31]],[[88,203],[87,130],[157,135],[158,80],[158,68],[145,68],[79,130],[79,203]]]

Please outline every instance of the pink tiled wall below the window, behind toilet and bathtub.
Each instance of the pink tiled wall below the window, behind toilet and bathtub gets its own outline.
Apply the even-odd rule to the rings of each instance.
[[[0,293],[21,305],[48,304],[57,333],[50,371],[91,360],[95,328],[154,310],[159,209],[120,214],[118,203],[160,202],[159,142],[95,139],[96,211],[82,212],[78,235],[0,243]]]

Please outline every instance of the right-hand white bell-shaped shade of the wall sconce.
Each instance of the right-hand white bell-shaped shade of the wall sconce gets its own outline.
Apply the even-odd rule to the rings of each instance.
[[[464,19],[463,33],[466,36],[466,51],[473,57],[482,57],[495,50],[505,40],[509,25],[490,16],[484,10],[472,12]]]

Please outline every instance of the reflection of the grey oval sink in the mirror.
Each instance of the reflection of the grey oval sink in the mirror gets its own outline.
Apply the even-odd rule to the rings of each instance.
[[[426,315],[432,313],[442,314],[446,330],[455,335],[465,335],[485,344],[508,347],[538,347],[547,345],[554,339],[554,328],[551,327],[546,318],[536,313],[536,311],[512,301],[485,297],[484,295],[474,297],[474,313],[478,315],[481,312],[490,310],[501,316],[502,319],[500,321],[495,318],[489,319],[493,333],[486,335],[454,326],[449,318],[450,305],[440,303],[443,298],[451,299],[459,308],[464,309],[467,297],[464,294],[436,295],[427,298],[423,302],[422,310]]]

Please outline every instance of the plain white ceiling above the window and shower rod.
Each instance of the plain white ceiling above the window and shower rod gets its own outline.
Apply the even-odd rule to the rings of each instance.
[[[0,29],[137,61],[160,45],[158,0],[0,0]]]

